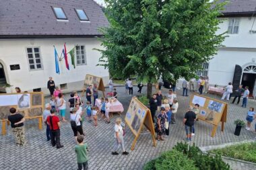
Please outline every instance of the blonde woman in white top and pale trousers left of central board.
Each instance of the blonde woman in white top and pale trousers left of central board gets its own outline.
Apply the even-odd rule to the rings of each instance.
[[[122,146],[123,155],[128,155],[127,151],[125,151],[125,142],[123,140],[123,127],[121,126],[121,118],[116,119],[115,124],[115,147],[114,152],[112,152],[112,155],[119,155],[117,153],[118,149],[120,148],[120,145]]]

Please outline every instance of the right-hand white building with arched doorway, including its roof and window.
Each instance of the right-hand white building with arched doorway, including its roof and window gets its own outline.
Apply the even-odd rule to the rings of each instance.
[[[231,0],[220,17],[223,23],[216,34],[227,32],[218,50],[204,70],[199,72],[209,77],[210,85],[226,86],[233,83],[249,86],[251,97],[256,96],[256,1]]]

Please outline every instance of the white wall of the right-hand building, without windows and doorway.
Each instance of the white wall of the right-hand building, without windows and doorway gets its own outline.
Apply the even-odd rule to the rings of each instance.
[[[220,48],[212,60],[210,60],[209,72],[210,84],[227,85],[232,82],[235,65],[243,65],[252,62],[256,58],[256,34],[249,31],[253,26],[251,17],[238,17],[240,19],[238,34],[226,34],[223,48]],[[216,34],[222,34],[228,30],[229,18],[221,18],[223,23]],[[253,26],[256,30],[256,24]],[[244,68],[243,68],[244,69]]]

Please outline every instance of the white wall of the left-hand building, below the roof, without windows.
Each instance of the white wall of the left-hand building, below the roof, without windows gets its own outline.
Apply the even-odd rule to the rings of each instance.
[[[68,71],[65,68],[65,60],[59,62],[61,74],[55,73],[55,54],[53,45],[55,45],[59,56],[63,50],[63,44],[66,42],[67,52],[75,45],[86,46],[87,65],[76,66],[73,69],[71,58],[69,56]],[[30,71],[28,66],[28,56],[26,48],[40,47],[43,69],[39,71]],[[32,89],[42,88],[46,91],[46,83],[49,77],[53,77],[57,85],[67,83],[66,91],[81,89],[86,74],[97,75],[104,78],[106,84],[108,80],[108,70],[104,67],[96,67],[100,52],[93,48],[101,48],[100,41],[97,38],[45,38],[45,39],[1,39],[0,40],[0,62],[5,67],[7,83],[18,86],[22,91],[31,91]],[[9,65],[20,65],[20,70],[11,71]],[[47,92],[48,93],[48,92]]]

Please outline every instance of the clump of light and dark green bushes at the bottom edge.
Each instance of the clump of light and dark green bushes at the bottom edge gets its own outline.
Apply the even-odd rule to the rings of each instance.
[[[188,164],[187,164],[188,163]],[[192,163],[192,165],[191,165]],[[164,169],[199,169],[199,170],[229,170],[230,166],[222,161],[220,155],[212,157],[204,155],[200,149],[193,144],[177,143],[172,151],[163,153],[144,166],[145,170]]]

